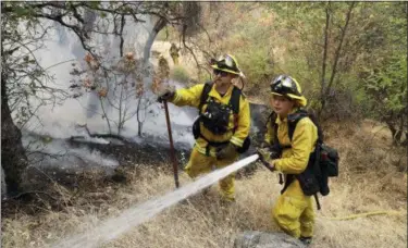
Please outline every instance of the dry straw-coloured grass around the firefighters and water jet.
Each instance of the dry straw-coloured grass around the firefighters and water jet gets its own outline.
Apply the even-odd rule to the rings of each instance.
[[[378,210],[407,211],[407,176],[400,172],[406,168],[405,149],[390,150],[388,139],[382,137],[386,133],[373,137],[367,122],[357,132],[351,126],[356,127],[331,125],[327,133],[329,144],[341,152],[342,171],[331,182],[331,195],[320,198],[312,247],[406,247],[406,214],[330,220]],[[395,159],[400,156],[405,158]],[[64,190],[71,203],[61,211],[46,208],[34,215],[24,211],[8,215],[2,220],[2,247],[44,247],[174,187],[170,172],[141,168],[126,172],[126,185],[94,185],[75,197]],[[182,185],[188,182],[182,174]],[[236,188],[237,201],[231,206],[219,200],[213,186],[208,195],[190,197],[103,247],[232,247],[242,231],[277,231],[270,219],[281,188],[277,175],[261,169],[237,181]]]

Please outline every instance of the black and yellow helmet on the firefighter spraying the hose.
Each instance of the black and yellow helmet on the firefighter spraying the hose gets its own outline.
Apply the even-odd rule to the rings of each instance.
[[[307,99],[301,95],[299,83],[288,75],[280,75],[272,80],[271,94],[297,100],[301,107],[308,103]]]

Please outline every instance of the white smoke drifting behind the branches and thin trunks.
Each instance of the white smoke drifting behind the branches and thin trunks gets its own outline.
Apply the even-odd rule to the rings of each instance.
[[[91,25],[96,25],[100,30],[113,28],[112,22],[99,17],[95,18],[92,14],[88,13],[87,18],[89,18],[87,29],[90,29]],[[126,22],[123,32],[125,40],[124,52],[132,51],[136,57],[143,55],[144,45],[148,38],[149,30],[152,29],[150,18],[144,16],[144,20],[146,20],[145,23],[137,24],[131,20]],[[48,83],[48,86],[67,90],[73,79],[73,75],[70,74],[73,69],[72,63],[76,61],[83,62],[86,51],[73,32],[51,21],[42,21],[42,24],[54,28],[50,29],[45,40],[45,47],[35,51],[35,55],[39,64],[48,69],[49,74],[54,78],[53,82]],[[91,46],[96,48],[96,53],[103,54],[108,61],[114,61],[119,58],[119,37],[94,34]],[[151,77],[147,76],[145,82],[150,84]],[[147,92],[146,97],[156,99],[152,92]],[[36,99],[32,99],[30,103],[34,107],[40,104]],[[136,107],[137,99],[131,100],[128,104]],[[193,123],[191,111],[187,109],[186,113],[186,109],[181,109],[173,104],[169,107],[175,144],[191,147],[194,144],[193,135],[190,133],[186,134],[186,129],[188,131]],[[15,116],[15,113],[13,115]],[[38,150],[29,145],[35,141],[41,145],[41,142],[38,142],[40,137],[50,137],[51,141],[48,145],[42,144],[41,149],[44,152],[52,154],[65,152],[66,156],[59,162],[60,165],[62,163],[64,164],[63,166],[74,166],[74,164],[85,164],[87,162],[94,165],[100,164],[101,166],[116,166],[119,164],[114,159],[103,157],[88,149],[72,148],[70,144],[63,141],[63,139],[72,136],[84,136],[84,141],[99,144],[112,141],[91,138],[84,128],[78,127],[78,125],[86,124],[91,133],[109,133],[104,116],[101,115],[100,103],[96,94],[84,94],[76,99],[70,98],[57,104],[41,106],[36,115],[37,117],[30,119],[23,128],[23,142],[29,151]],[[154,137],[154,139],[150,138],[150,141],[168,144],[168,128],[164,110],[161,104],[152,103],[146,110],[140,111],[140,115],[146,120],[143,126],[144,136]],[[119,112],[114,108],[107,109],[107,116],[118,121]],[[137,131],[138,122],[136,116],[133,116],[123,126],[121,135],[129,140],[144,142],[145,139],[137,137]],[[47,164],[58,165],[58,161],[50,159]]]

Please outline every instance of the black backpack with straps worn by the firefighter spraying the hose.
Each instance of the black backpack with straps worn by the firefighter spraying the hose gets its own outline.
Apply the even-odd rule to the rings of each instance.
[[[282,150],[289,148],[290,146],[281,146],[277,139],[277,125],[275,120],[277,115],[273,112],[270,115],[272,128],[274,129],[274,140],[272,151],[282,153]],[[299,109],[297,112],[289,114],[287,117],[288,124],[288,136],[292,141],[296,124],[304,117],[309,117],[313,124],[318,127],[318,141],[314,151],[310,154],[308,165],[306,170],[297,175],[288,174],[286,177],[285,185],[282,189],[282,194],[286,190],[293,179],[296,177],[299,181],[300,187],[306,196],[314,196],[318,209],[320,203],[317,194],[320,193],[322,196],[327,196],[330,193],[329,177],[338,176],[338,152],[336,149],[325,145],[323,142],[323,133],[313,113],[309,113],[304,109]]]

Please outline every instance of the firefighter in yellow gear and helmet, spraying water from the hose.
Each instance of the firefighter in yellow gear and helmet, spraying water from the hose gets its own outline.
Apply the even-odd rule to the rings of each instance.
[[[318,140],[318,128],[309,117],[304,117],[296,124],[292,141],[289,139],[288,119],[307,104],[296,79],[287,75],[276,77],[271,84],[271,104],[277,115],[271,121],[277,125],[277,135],[274,136],[273,125],[268,125],[265,141],[275,145],[273,137],[277,138],[281,158],[272,159],[270,165],[285,175],[285,187],[272,209],[272,216],[284,232],[310,244],[314,225],[312,199],[304,194],[294,175],[306,170]]]

